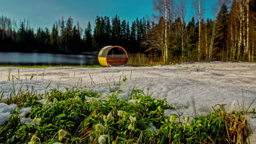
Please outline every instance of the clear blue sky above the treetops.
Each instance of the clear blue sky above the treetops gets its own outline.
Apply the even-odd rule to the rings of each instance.
[[[194,15],[193,0],[187,0],[187,20]],[[202,7],[205,9],[204,17],[214,18],[212,8],[217,0],[205,0]],[[88,21],[94,26],[96,16],[109,16],[110,19],[117,14],[121,20],[133,21],[145,17],[152,17],[153,0],[0,0],[0,15],[11,20],[30,21],[30,26],[53,27],[53,23],[64,17],[71,16],[74,23],[79,21],[85,27]]]

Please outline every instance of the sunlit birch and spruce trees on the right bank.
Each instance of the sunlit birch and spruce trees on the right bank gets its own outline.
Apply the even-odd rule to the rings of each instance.
[[[218,0],[215,20],[203,19],[203,0],[194,0],[195,17],[185,21],[185,0],[154,0],[158,23],[142,42],[161,52],[164,63],[255,61],[255,4],[252,0]],[[229,7],[227,6],[229,5]]]

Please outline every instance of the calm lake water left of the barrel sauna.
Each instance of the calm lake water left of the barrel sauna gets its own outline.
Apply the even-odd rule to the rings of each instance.
[[[100,65],[97,56],[53,53],[0,52],[2,65]]]

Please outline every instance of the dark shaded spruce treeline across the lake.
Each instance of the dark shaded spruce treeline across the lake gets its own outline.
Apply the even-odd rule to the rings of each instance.
[[[128,52],[137,53],[145,51],[140,43],[147,38],[150,23],[137,18],[130,26],[115,15],[111,20],[97,16],[94,31],[90,22],[83,29],[79,22],[74,24],[72,17],[66,21],[62,17],[51,30],[39,27],[34,31],[26,20],[15,27],[16,23],[8,17],[0,17],[0,51],[80,53],[120,45]]]

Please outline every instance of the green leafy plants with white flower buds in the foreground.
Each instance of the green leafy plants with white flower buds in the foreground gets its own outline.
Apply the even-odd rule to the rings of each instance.
[[[0,143],[247,143],[246,117],[222,106],[207,116],[166,117],[172,107],[139,89],[128,99],[118,99],[120,90],[106,99],[91,90],[66,91],[2,101],[17,107],[0,127]]]

